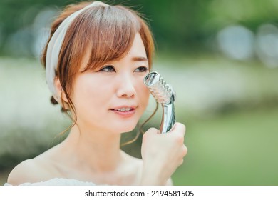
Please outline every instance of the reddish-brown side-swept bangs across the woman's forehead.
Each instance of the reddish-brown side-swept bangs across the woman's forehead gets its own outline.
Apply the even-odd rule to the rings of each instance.
[[[97,70],[106,62],[128,54],[135,34],[140,31],[140,21],[123,6],[92,7],[83,11],[73,27],[71,64],[81,66],[84,55],[90,52],[88,63],[82,71]],[[94,33],[94,34],[92,34]]]

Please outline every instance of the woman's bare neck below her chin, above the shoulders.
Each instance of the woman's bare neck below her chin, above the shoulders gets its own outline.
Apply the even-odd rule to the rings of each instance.
[[[120,134],[90,131],[73,126],[63,143],[65,153],[71,156],[73,166],[93,171],[115,171],[123,157]]]

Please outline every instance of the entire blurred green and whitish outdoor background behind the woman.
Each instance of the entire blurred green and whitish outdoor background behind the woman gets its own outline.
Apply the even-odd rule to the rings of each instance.
[[[53,17],[73,2],[0,1],[0,184],[20,161],[60,142],[70,124],[49,101],[38,57]],[[177,92],[188,154],[174,184],[278,185],[278,1],[106,2],[144,14],[154,69]],[[123,149],[140,157],[140,139]]]

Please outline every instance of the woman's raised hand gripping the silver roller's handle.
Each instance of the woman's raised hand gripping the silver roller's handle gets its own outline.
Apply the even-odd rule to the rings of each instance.
[[[175,123],[166,134],[150,128],[143,135],[143,185],[165,185],[187,154],[184,142],[185,125]]]

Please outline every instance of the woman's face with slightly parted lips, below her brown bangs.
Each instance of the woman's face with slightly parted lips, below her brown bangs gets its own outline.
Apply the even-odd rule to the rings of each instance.
[[[125,57],[110,61],[98,71],[79,73],[71,95],[78,126],[115,133],[133,130],[148,105],[150,93],[143,83],[148,68],[143,41],[136,34]]]

